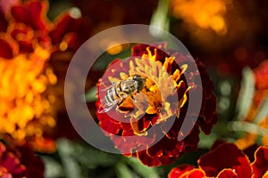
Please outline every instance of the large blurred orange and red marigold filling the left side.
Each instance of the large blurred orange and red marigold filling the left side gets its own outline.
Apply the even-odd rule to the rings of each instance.
[[[6,142],[30,142],[36,150],[51,152],[55,117],[63,109],[63,86],[55,75],[63,66],[57,63],[53,68],[51,61],[57,61],[56,53],[71,61],[69,53],[88,39],[89,23],[71,12],[48,20],[47,1],[4,4],[8,8],[4,20],[2,12],[0,17],[6,24],[0,32],[0,135]]]

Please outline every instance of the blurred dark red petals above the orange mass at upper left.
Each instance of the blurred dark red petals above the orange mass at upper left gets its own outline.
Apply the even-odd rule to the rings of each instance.
[[[52,22],[46,17],[47,9],[47,1],[29,1],[13,4],[11,12],[6,12],[6,34],[18,42],[21,53],[32,52],[37,44],[54,52],[73,52],[90,36],[88,18],[73,15],[70,10]]]

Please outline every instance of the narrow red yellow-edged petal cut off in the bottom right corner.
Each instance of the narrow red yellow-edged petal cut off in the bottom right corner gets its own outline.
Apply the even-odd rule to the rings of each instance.
[[[255,151],[255,161],[252,164],[253,168],[253,178],[262,177],[264,174],[267,176],[268,170],[268,148],[267,147],[259,147]]]

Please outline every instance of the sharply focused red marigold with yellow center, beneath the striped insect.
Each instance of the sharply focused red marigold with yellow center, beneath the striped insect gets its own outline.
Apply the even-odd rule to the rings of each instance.
[[[113,61],[97,85],[99,125],[122,154],[137,157],[147,166],[171,164],[183,153],[196,149],[199,128],[209,134],[217,122],[213,84],[204,66],[197,62],[198,71],[193,71],[194,61],[188,56],[165,53],[164,47],[164,44],[134,46],[132,56],[126,61]],[[109,87],[135,75],[144,79],[139,93],[132,97],[130,94],[117,109],[112,109],[113,104],[107,106],[110,104],[107,101],[114,99],[113,96],[105,99]],[[196,84],[197,76],[202,79],[203,90]],[[189,91],[203,93],[200,113],[186,114]],[[181,125],[184,120],[192,122],[195,116],[199,116],[197,124],[188,123],[193,128],[184,135],[186,133],[180,131]],[[151,129],[154,132],[150,132]],[[185,138],[180,140],[180,136]]]

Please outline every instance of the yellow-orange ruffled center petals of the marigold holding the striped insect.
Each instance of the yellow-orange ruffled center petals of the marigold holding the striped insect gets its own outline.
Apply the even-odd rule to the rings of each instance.
[[[186,93],[190,87],[185,90],[182,98],[176,100],[176,97],[178,97],[178,89],[184,83],[183,80],[180,80],[180,77],[188,66],[185,64],[180,69],[175,69],[172,74],[169,74],[168,71],[172,67],[174,57],[166,57],[162,63],[161,61],[156,61],[156,55],[156,51],[153,55],[149,48],[147,48],[147,54],[130,61],[130,71],[128,74],[121,72],[121,78],[108,77],[110,82],[118,82],[134,75],[146,78],[145,87],[140,93],[133,96],[135,101],[132,101],[131,97],[129,97],[119,107],[131,110],[130,118],[133,120],[131,125],[136,134],[147,133],[144,130],[138,130],[138,121],[135,118],[142,117],[145,113],[157,114],[159,118],[156,124],[159,124],[169,117],[179,116],[180,108],[187,101]]]

